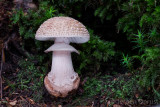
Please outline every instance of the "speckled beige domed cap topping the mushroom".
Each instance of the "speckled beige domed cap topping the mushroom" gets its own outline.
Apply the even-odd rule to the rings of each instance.
[[[37,30],[35,38],[40,41],[68,38],[72,43],[85,43],[90,36],[86,27],[70,17],[53,17],[45,21]]]

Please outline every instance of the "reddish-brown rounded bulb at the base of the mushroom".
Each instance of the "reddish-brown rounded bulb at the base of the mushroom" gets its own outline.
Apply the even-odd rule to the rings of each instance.
[[[57,86],[52,84],[49,81],[48,76],[46,76],[44,79],[44,84],[47,91],[55,97],[66,97],[70,92],[78,88],[79,82],[80,82],[79,76],[77,76],[77,78],[73,81],[72,84],[70,85],[66,84],[64,86]]]

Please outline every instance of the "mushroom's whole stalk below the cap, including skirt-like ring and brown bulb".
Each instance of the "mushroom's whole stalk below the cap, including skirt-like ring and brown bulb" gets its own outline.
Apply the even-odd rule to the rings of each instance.
[[[68,93],[79,86],[80,78],[74,72],[71,52],[78,51],[64,42],[55,42],[45,52],[52,51],[51,71],[44,79],[48,92],[56,97],[66,97]]]

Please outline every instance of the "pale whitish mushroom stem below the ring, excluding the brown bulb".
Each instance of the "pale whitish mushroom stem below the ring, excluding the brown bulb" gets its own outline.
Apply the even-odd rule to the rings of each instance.
[[[48,74],[50,82],[56,86],[73,85],[78,74],[72,66],[71,52],[54,51],[52,55],[52,68]]]

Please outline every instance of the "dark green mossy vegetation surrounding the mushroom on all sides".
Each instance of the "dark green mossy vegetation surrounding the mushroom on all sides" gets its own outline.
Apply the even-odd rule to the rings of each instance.
[[[1,0],[0,7],[4,98],[65,106],[113,105],[117,99],[159,103],[160,1]],[[81,84],[64,99],[50,96],[43,85],[51,67],[51,54],[44,50],[53,42],[35,40],[38,27],[54,16],[82,22],[91,37],[71,44],[80,52],[72,53],[72,60]]]

